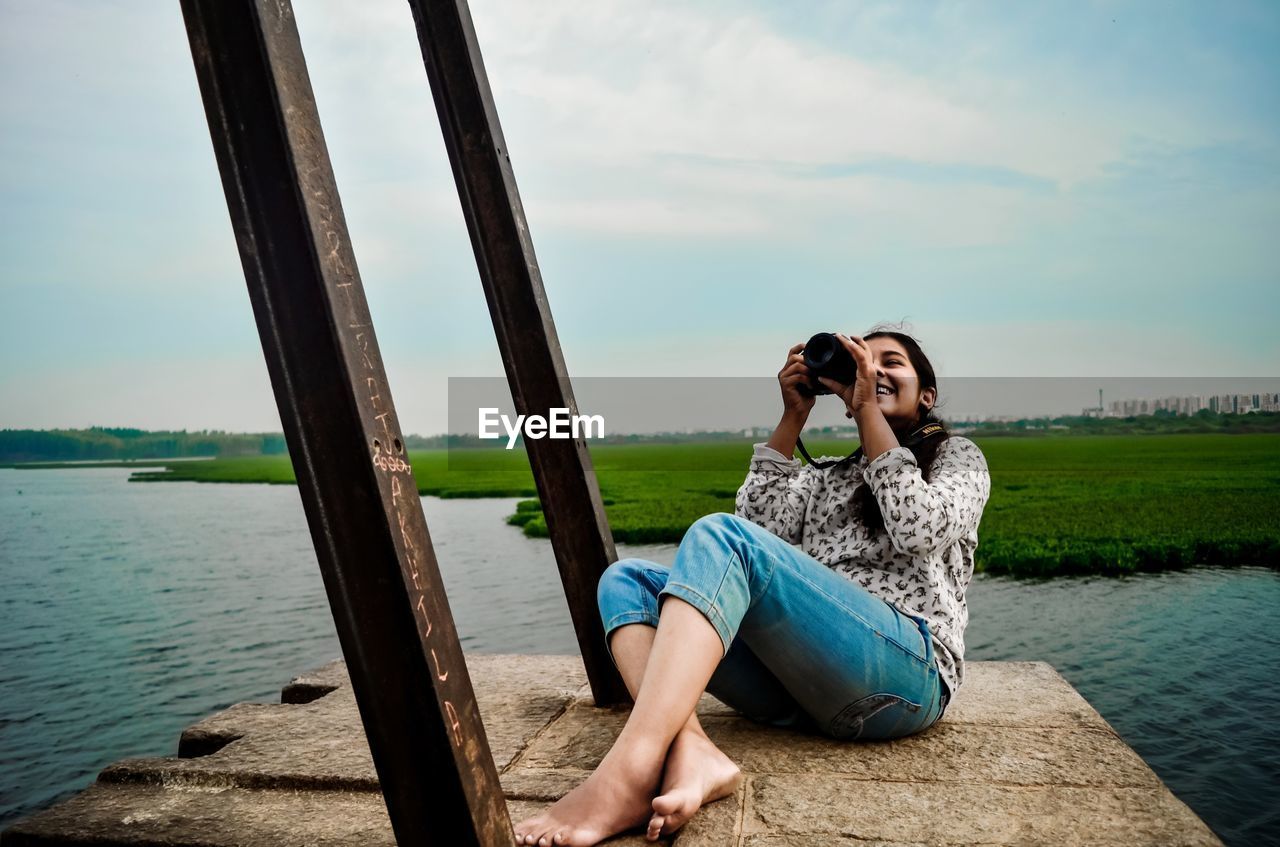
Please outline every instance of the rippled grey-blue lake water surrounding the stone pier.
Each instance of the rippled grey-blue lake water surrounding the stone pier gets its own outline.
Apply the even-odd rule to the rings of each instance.
[[[340,654],[296,487],[127,480],[0,470],[0,828]],[[462,646],[577,653],[512,503],[424,500]],[[1226,843],[1275,843],[1280,573],[978,576],[969,609],[968,658],[1051,663]]]

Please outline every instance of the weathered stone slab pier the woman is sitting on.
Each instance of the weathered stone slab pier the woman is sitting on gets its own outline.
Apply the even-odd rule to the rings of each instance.
[[[591,705],[576,656],[468,655],[512,820],[586,778],[626,720]],[[707,733],[745,774],[676,847],[1221,844],[1044,663],[968,664],[945,718],[888,742],[764,728],[704,696]],[[182,734],[174,759],[106,768],[18,821],[26,844],[394,844],[346,668],[293,679]],[[650,844],[639,830],[607,844]]]

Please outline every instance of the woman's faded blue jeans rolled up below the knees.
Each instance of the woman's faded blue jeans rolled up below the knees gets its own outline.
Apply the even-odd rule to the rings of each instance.
[[[609,566],[598,590],[605,644],[628,623],[657,627],[664,596],[716,627],[724,654],[707,691],[753,720],[841,740],[900,738],[946,709],[923,618],[750,521],[699,519],[671,568]]]

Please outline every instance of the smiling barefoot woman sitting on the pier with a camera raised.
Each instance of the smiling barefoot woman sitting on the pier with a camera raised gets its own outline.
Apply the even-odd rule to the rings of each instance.
[[[937,379],[911,336],[837,336],[858,376],[822,383],[856,422],[858,454],[791,458],[815,403],[796,344],[737,514],[694,523],[669,569],[623,559],[602,577],[635,706],[599,768],[516,825],[517,844],[589,847],[646,821],[655,841],[733,793],[741,773],[694,714],[704,690],[762,723],[877,740],[931,727],[960,688],[986,459],[933,418]]]

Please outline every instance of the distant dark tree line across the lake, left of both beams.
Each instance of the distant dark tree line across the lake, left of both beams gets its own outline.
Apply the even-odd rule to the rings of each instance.
[[[127,427],[0,430],[0,463],[172,459],[284,453],[279,432],[151,432]]]

